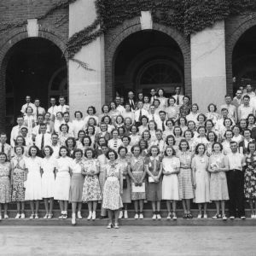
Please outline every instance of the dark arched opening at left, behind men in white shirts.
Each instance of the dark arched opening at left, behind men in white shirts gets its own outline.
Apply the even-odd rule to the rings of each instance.
[[[49,96],[67,97],[67,61],[61,49],[45,38],[26,38],[8,52],[6,123],[13,125],[26,95],[48,108]],[[53,94],[53,91],[55,92]]]

